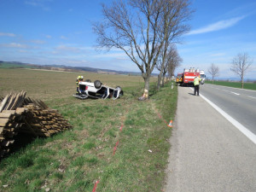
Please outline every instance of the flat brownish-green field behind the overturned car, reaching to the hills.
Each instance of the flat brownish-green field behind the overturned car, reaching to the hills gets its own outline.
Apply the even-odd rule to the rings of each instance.
[[[79,103],[79,100],[73,100],[73,94],[76,92],[75,81],[79,75],[83,75],[84,79],[90,79],[92,82],[100,79],[103,84],[111,87],[120,85],[126,89],[143,86],[143,78],[138,76],[0,68],[0,96],[26,90],[26,96],[41,99],[52,106],[70,102]]]

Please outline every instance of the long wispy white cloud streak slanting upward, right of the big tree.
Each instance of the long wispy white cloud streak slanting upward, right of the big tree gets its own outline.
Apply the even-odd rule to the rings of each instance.
[[[241,17],[232,18],[230,20],[220,20],[211,25],[204,26],[199,29],[193,30],[193,31],[189,32],[187,35],[195,35],[195,34],[201,34],[201,33],[206,33],[206,32],[219,31],[219,30],[222,30],[225,28],[229,28],[230,26],[235,26],[237,22],[239,22],[240,20],[242,20],[244,18],[245,18],[245,16],[241,16]]]

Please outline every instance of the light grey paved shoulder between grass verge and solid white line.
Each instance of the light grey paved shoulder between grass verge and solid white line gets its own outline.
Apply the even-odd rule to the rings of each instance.
[[[255,143],[188,87],[178,87],[170,142],[164,191],[256,191]]]

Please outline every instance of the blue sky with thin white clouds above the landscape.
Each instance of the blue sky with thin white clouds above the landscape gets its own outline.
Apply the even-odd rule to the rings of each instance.
[[[110,2],[0,0],[0,61],[139,72],[123,51],[96,50],[92,23],[102,20],[102,3]],[[256,79],[256,1],[191,0],[191,8],[191,30],[177,44],[183,62],[176,73],[195,67],[209,77],[213,63],[218,78],[234,78],[232,59],[247,53],[253,65],[245,78]]]

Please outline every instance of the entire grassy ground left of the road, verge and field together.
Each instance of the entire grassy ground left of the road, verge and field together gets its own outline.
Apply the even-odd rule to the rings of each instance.
[[[77,100],[72,95],[78,75],[120,85],[125,96]],[[138,102],[141,77],[0,69],[0,95],[26,90],[73,125],[73,130],[36,138],[4,158],[0,191],[92,191],[96,181],[96,191],[161,191],[172,134],[165,120],[174,119],[177,87],[167,84],[155,93],[155,80],[150,99]]]

